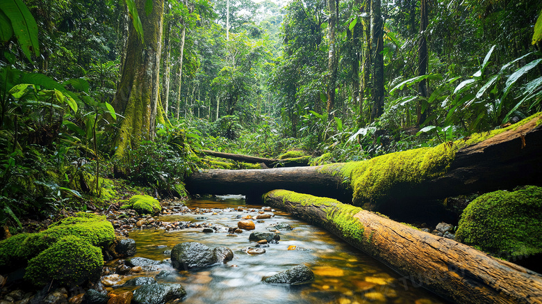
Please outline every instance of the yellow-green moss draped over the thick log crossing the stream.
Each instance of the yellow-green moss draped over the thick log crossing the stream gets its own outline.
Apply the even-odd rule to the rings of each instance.
[[[324,165],[320,172],[339,174],[345,182],[350,182],[354,205],[370,209],[370,204],[386,197],[386,193],[397,184],[413,185],[426,179],[441,177],[447,173],[455,154],[463,147],[485,141],[488,138],[516,129],[534,118],[536,125],[542,123],[542,113],[525,118],[515,125],[490,132],[473,134],[459,141],[442,143],[436,147],[395,152],[366,161],[332,163]]]

